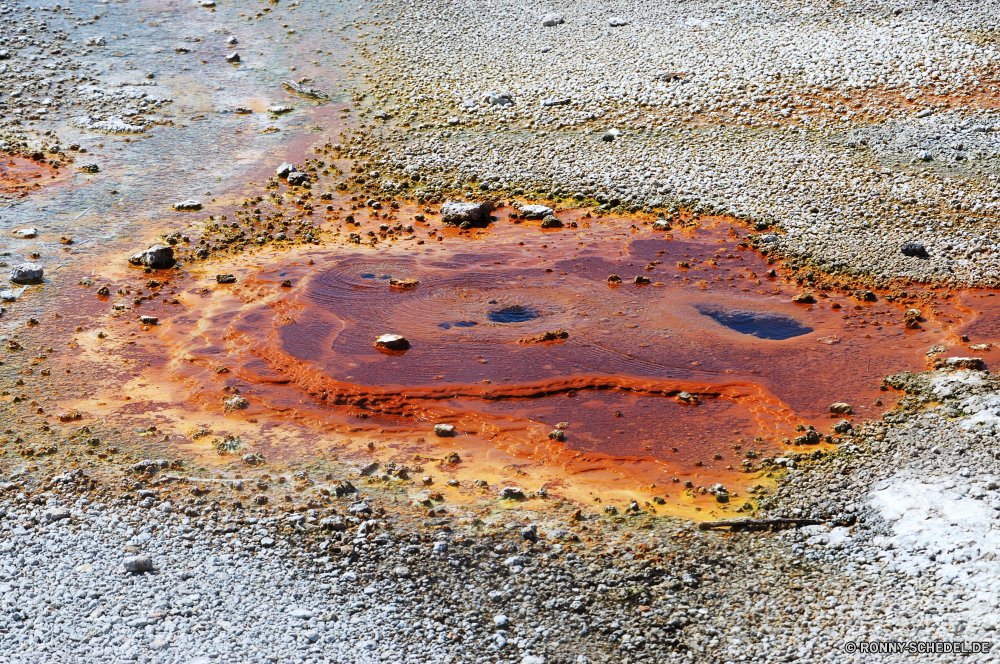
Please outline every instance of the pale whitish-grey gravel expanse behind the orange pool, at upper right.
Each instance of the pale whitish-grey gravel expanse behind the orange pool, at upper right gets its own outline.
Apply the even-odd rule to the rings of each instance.
[[[383,191],[683,205],[827,272],[998,283],[991,4],[379,11],[353,154]]]

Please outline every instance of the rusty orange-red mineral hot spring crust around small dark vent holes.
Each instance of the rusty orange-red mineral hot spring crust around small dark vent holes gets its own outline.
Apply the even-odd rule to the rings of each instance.
[[[451,424],[456,444],[705,484],[750,481],[734,477],[747,458],[803,427],[831,433],[833,402],[877,416],[883,376],[957,341],[929,305],[911,329],[903,302],[793,302],[803,289],[725,219],[663,233],[560,216],[579,227],[501,219],[439,242],[415,224],[425,244],[246,257],[236,285],[192,289],[161,322],[169,369],[209,410],[245,399],[230,416],[400,437]],[[386,334],[405,347],[378,347]]]

